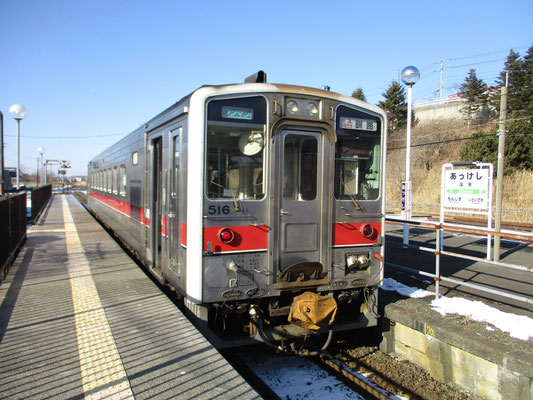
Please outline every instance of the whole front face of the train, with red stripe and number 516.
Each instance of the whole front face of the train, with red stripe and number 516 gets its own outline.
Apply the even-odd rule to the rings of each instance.
[[[208,306],[218,330],[251,309],[284,324],[311,292],[346,309],[337,318],[346,327],[374,325],[384,113],[316,89],[252,84],[195,92],[189,124],[189,305]]]

